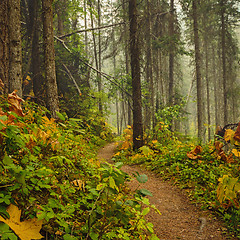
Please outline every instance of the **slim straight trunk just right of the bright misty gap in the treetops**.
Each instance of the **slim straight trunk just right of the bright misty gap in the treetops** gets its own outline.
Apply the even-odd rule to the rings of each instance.
[[[198,122],[198,138],[204,139],[203,129],[203,86],[201,76],[201,56],[200,44],[198,36],[198,6],[199,0],[193,1],[193,31],[194,31],[194,45],[195,45],[195,65],[197,78],[197,122]]]

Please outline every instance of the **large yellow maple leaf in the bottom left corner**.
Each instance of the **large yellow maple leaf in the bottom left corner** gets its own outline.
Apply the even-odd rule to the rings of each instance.
[[[9,219],[0,216],[0,221],[6,223],[21,240],[41,239],[43,236],[39,233],[42,228],[42,221],[37,218],[20,222],[21,210],[17,206],[10,204],[7,212]]]

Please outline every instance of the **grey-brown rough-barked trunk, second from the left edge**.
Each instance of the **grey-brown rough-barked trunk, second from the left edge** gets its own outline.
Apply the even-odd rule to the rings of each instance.
[[[22,41],[20,0],[8,1],[9,29],[9,91],[22,97]]]

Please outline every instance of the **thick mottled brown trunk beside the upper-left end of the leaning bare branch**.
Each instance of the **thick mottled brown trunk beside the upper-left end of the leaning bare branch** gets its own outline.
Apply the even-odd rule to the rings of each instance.
[[[47,104],[52,117],[57,118],[56,112],[59,111],[59,100],[55,70],[52,2],[52,0],[42,0],[43,42],[45,78],[47,86]]]

